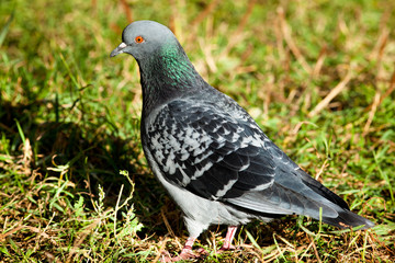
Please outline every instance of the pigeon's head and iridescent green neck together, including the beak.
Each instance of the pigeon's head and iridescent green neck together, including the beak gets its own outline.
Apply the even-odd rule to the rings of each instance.
[[[132,55],[139,66],[143,112],[208,85],[198,73],[174,34],[154,21],[136,21],[122,33],[122,43],[110,54]]]

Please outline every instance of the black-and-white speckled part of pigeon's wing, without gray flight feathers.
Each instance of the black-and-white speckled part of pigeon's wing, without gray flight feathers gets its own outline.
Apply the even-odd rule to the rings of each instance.
[[[167,180],[210,198],[236,197],[273,183],[275,149],[255,123],[189,100],[167,104],[148,128]],[[262,155],[263,149],[271,155]]]

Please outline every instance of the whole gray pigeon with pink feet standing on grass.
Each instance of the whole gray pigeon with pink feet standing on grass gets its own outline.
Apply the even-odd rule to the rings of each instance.
[[[223,250],[234,249],[237,227],[305,215],[340,228],[374,224],[304,172],[253,118],[195,70],[174,34],[154,21],[136,21],[110,57],[126,53],[139,67],[140,138],[158,181],[183,211],[189,238],[178,256],[193,259],[195,239],[226,225]]]

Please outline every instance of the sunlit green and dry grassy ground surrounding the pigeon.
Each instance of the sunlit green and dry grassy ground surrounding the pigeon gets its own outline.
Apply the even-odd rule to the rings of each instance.
[[[248,3],[247,3],[248,2]],[[169,25],[202,76],[294,161],[373,221],[252,222],[205,262],[395,260],[395,2],[0,2],[0,262],[156,261],[181,215],[139,142],[134,59],[109,58],[133,20]]]

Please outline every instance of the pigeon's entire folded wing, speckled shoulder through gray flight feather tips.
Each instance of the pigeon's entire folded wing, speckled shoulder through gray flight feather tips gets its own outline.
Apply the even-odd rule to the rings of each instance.
[[[180,187],[256,211],[317,216],[318,205],[305,197],[317,194],[303,176],[307,183],[315,181],[268,139],[241,107],[224,111],[215,103],[178,99],[157,113],[147,135],[166,180]],[[290,175],[289,170],[295,174]],[[331,197],[330,191],[317,186]],[[316,199],[325,199],[321,196],[319,193]],[[326,208],[326,216],[337,215],[319,206]]]

